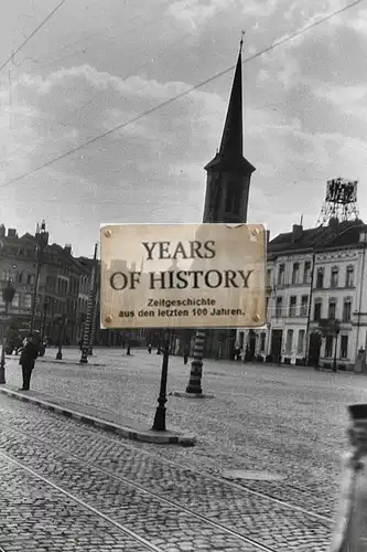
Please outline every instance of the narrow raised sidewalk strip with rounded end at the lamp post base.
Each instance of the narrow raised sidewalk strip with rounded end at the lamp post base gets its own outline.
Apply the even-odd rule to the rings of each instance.
[[[40,391],[19,391],[13,385],[7,385],[0,386],[0,393],[73,417],[128,439],[161,445],[193,446],[196,444],[196,437],[192,434],[177,431],[155,432],[149,427],[142,427],[136,421],[112,411],[75,403]]]

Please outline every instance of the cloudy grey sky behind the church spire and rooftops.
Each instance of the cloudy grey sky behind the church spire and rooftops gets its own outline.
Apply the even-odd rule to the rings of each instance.
[[[12,0],[0,65],[60,0]],[[67,0],[0,73],[0,221],[91,255],[100,223],[199,222],[234,71],[47,168],[347,3],[339,0]],[[244,67],[249,222],[315,224],[326,181],[359,180],[367,220],[367,2]],[[1,189],[1,187],[3,187]]]

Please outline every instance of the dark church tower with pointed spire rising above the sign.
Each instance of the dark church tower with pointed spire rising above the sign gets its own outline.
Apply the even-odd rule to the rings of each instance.
[[[242,41],[237,60],[219,151],[207,172],[203,222],[247,222],[248,198],[255,167],[244,157]]]

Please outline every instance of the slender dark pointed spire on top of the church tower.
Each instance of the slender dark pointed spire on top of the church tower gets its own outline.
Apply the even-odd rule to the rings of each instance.
[[[244,156],[242,128],[242,45],[244,32],[239,46],[235,78],[231,86],[227,117],[222,136],[219,155],[227,159],[241,159]]]

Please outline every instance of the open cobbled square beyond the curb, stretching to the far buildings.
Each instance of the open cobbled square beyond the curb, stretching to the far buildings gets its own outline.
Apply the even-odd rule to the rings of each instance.
[[[162,357],[145,351],[133,351],[130,358],[120,350],[96,353],[106,367],[39,362],[33,389],[108,406],[151,425]],[[47,354],[54,357],[54,351]],[[66,349],[64,358],[77,361],[79,352]],[[17,384],[20,371],[15,359],[8,361],[7,369],[7,381]],[[184,367],[181,358],[172,357],[169,391],[184,391],[188,371],[188,364]],[[283,481],[238,484],[311,512],[334,516],[339,456],[347,447],[346,406],[366,400],[367,379],[294,367],[205,361],[203,388],[215,399],[170,396],[168,403],[169,427],[196,433],[198,445],[184,449],[160,446],[161,459],[212,475],[230,468],[279,474]],[[119,442],[118,437],[110,439]],[[156,452],[152,445],[138,443],[133,449],[150,455]]]

